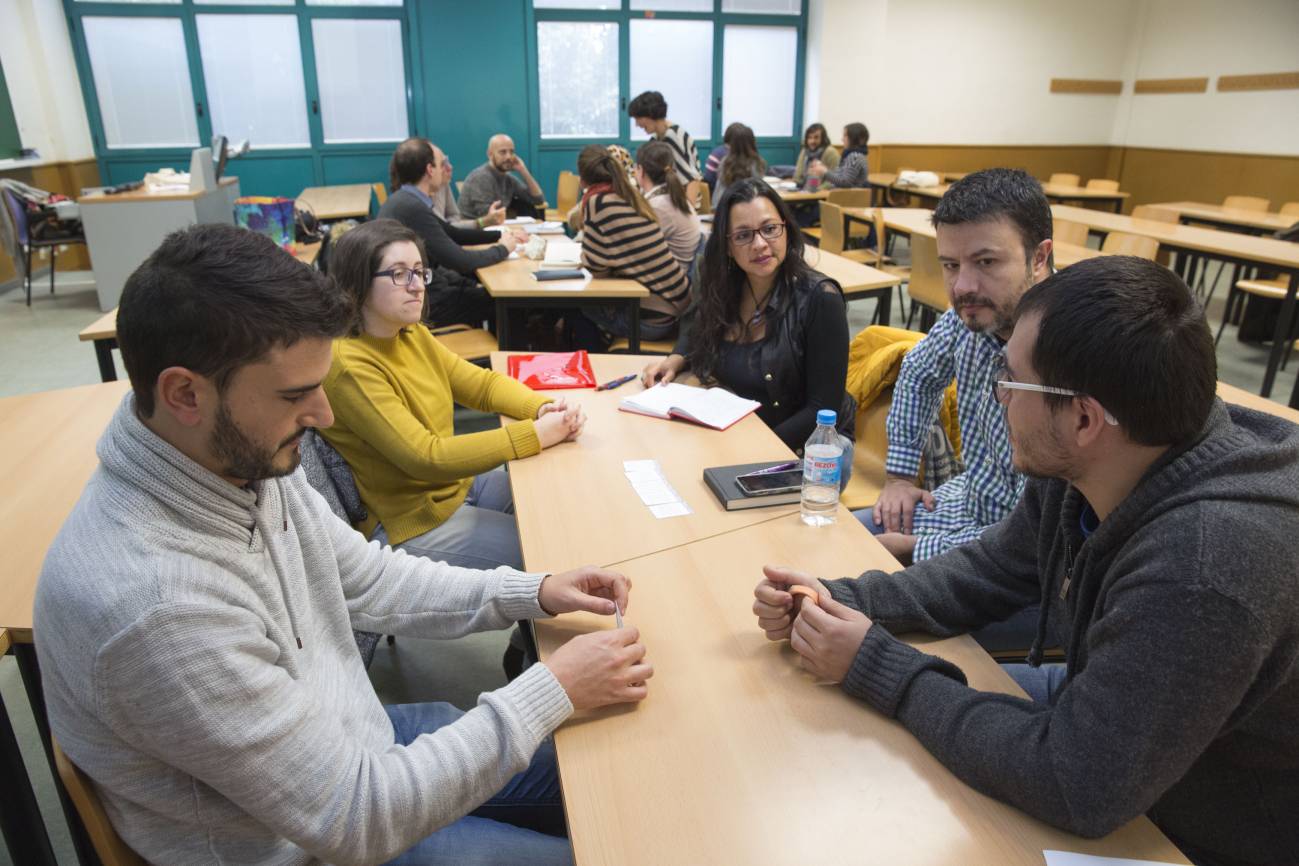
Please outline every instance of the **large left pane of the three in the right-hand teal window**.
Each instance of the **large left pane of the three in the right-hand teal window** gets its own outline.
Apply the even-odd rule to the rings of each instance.
[[[617,138],[618,25],[536,22],[542,138]]]

